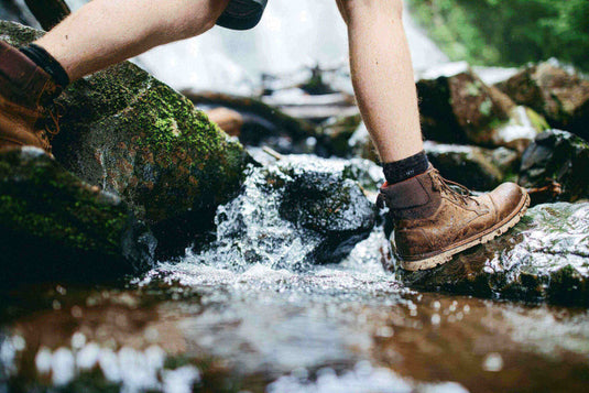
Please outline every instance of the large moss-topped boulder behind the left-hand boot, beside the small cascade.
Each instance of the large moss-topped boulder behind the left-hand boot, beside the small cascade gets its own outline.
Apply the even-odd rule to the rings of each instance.
[[[40,32],[0,22],[23,44]],[[122,63],[72,84],[54,154],[84,181],[122,197],[161,240],[184,250],[237,194],[247,153],[182,95]],[[170,244],[170,245],[168,245]]]

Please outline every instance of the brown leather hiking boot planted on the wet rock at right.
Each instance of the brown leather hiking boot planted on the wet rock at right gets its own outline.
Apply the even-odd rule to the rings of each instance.
[[[506,232],[525,214],[530,197],[513,183],[473,197],[429,166],[422,175],[385,183],[379,203],[390,208],[401,266],[416,271],[448,262],[454,254]]]

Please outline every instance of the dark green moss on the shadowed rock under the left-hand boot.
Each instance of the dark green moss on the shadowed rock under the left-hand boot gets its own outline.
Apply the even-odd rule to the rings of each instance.
[[[90,190],[46,156],[0,161],[0,222],[11,231],[77,250],[120,251],[124,208]]]

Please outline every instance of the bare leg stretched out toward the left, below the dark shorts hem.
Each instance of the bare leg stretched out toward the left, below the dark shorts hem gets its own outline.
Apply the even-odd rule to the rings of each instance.
[[[199,35],[215,25],[229,0],[94,0],[36,44],[70,80],[154,46]]]

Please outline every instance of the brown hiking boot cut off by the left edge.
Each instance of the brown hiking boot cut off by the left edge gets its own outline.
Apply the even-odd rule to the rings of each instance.
[[[0,41],[0,151],[33,145],[51,154],[47,106],[62,88],[19,50]]]

